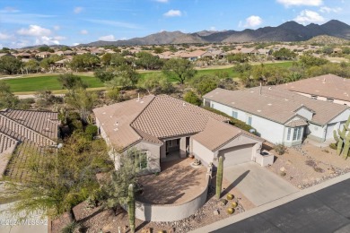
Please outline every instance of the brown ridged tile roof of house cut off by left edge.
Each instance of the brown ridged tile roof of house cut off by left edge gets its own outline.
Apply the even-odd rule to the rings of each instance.
[[[0,177],[22,180],[27,174],[21,168],[26,162],[23,151],[30,147],[42,151],[57,144],[57,116],[54,112],[0,110]]]

